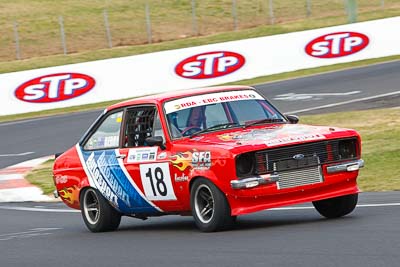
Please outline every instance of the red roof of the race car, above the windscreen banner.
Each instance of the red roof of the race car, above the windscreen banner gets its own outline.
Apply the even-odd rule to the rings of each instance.
[[[171,99],[188,97],[188,96],[193,96],[193,95],[201,95],[201,94],[216,93],[216,92],[223,92],[223,91],[234,91],[234,90],[249,90],[249,89],[254,90],[253,87],[244,86],[244,85],[214,86],[214,87],[178,90],[178,91],[173,91],[173,92],[166,92],[166,93],[161,93],[161,94],[153,94],[153,95],[148,95],[148,96],[137,97],[137,98],[123,101],[123,102],[119,102],[117,104],[109,106],[107,108],[107,111],[117,109],[117,108],[132,106],[132,105],[139,105],[139,104],[164,103]]]

